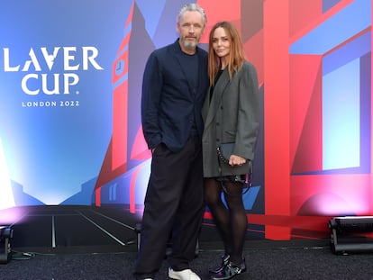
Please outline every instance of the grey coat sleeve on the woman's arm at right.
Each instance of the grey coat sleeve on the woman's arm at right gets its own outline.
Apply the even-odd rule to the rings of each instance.
[[[236,145],[233,154],[252,160],[260,119],[258,75],[249,62],[246,62],[241,70]]]

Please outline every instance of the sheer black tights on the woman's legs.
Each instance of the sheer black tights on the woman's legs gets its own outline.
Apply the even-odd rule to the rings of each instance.
[[[242,201],[242,184],[233,182],[223,184],[229,193],[223,193],[228,208],[222,201],[222,185],[214,178],[205,179],[205,203],[223,239],[225,253],[231,256],[230,259],[234,264],[240,264],[248,225]]]

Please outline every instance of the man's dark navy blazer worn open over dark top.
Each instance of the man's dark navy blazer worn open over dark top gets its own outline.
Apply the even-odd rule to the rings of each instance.
[[[149,149],[164,143],[177,152],[190,137],[193,120],[202,134],[201,108],[208,89],[207,52],[197,47],[199,83],[196,89],[188,81],[187,68],[181,61],[178,40],[154,50],[147,61],[141,96],[142,131]]]

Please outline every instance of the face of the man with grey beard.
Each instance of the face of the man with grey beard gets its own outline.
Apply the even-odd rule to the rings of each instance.
[[[187,11],[177,23],[181,49],[195,50],[204,30],[205,23],[202,14],[197,11]]]

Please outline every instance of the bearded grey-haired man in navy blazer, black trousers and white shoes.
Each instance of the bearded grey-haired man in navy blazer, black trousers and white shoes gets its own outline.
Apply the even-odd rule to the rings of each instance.
[[[177,16],[177,41],[153,51],[143,74],[141,121],[152,161],[136,279],[154,278],[171,236],[168,277],[200,280],[189,263],[205,211],[201,108],[208,87],[207,53],[197,47],[205,24],[200,6],[185,5]]]

